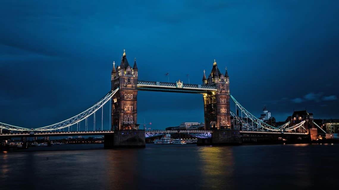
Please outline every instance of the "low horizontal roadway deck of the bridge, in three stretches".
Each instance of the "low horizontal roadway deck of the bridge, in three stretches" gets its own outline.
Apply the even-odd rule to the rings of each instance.
[[[263,135],[279,135],[281,132],[265,132],[265,131],[239,131],[240,134],[263,134]],[[2,133],[0,137],[52,137],[52,136],[87,136],[87,135],[108,135],[113,134],[114,131],[70,131],[70,132],[25,132],[25,133]],[[213,130],[145,130],[146,133],[159,133],[159,134],[173,134],[173,133],[213,133]],[[286,135],[308,135],[308,133],[289,133]]]

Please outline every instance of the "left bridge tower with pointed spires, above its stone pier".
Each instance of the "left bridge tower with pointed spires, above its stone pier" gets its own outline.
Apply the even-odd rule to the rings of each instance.
[[[128,64],[126,53],[121,57],[121,63],[111,73],[111,90],[119,88],[119,93],[112,97],[112,130],[138,130],[137,95],[138,67],[134,58],[133,68]]]

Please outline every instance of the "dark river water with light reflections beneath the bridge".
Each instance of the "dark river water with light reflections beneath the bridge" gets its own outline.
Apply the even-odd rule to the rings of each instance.
[[[146,144],[146,148],[140,149],[108,150],[102,144],[81,144],[33,150],[43,149],[54,151],[0,153],[1,189],[338,187],[338,144],[214,147]]]

